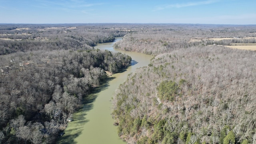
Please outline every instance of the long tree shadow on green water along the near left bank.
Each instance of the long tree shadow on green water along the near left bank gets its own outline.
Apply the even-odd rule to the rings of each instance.
[[[74,114],[74,121],[70,122],[68,128],[64,130],[65,134],[58,137],[56,142],[57,144],[77,144],[74,139],[82,134],[82,130],[84,130],[84,124],[89,122],[89,120],[86,120],[86,112],[92,110],[92,102],[95,101],[98,93],[108,88],[109,82],[114,78],[115,77],[106,78],[106,80],[104,80],[100,86],[95,88],[91,94],[88,94],[85,98],[83,98],[82,108],[80,108],[80,110]]]

